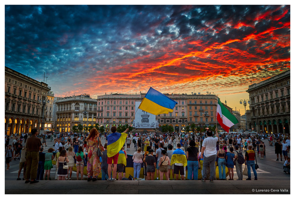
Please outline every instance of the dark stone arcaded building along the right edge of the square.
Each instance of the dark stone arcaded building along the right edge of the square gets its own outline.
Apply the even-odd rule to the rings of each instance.
[[[250,85],[247,92],[254,131],[290,133],[290,70]]]

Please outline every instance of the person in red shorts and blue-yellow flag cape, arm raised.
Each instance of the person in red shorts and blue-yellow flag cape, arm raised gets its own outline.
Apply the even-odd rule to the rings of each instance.
[[[119,157],[119,151],[122,149],[126,137],[127,137],[127,131],[129,128],[127,128],[123,133],[118,133],[117,127],[112,127],[111,131],[112,133],[107,137],[108,140],[108,145],[106,146],[107,148],[107,156],[108,156],[108,174],[109,174],[109,179],[108,181],[116,181],[116,172],[117,171],[117,163],[118,163],[118,157]],[[112,163],[114,162],[114,172],[113,172],[113,177],[111,177],[111,172],[112,172]]]

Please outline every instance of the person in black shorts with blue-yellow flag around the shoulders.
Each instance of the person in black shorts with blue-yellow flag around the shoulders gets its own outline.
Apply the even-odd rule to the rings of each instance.
[[[181,180],[184,180],[184,168],[187,165],[186,156],[183,150],[180,149],[181,145],[177,143],[177,149],[173,151],[171,157],[171,165],[174,164],[175,179],[178,180],[178,173],[180,172]]]

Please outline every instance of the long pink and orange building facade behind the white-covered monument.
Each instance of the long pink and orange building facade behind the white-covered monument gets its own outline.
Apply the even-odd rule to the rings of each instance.
[[[159,130],[163,125],[171,125],[175,132],[185,131],[185,127],[192,123],[200,127],[216,125],[216,95],[173,93],[165,95],[178,104],[174,107],[173,112],[156,115]],[[97,123],[104,125],[107,131],[111,126],[129,125],[132,123],[136,112],[135,102],[141,102],[144,96],[145,93],[115,93],[97,96]],[[204,115],[205,112],[207,112],[206,116]],[[220,125],[217,125],[217,127],[221,128]]]

